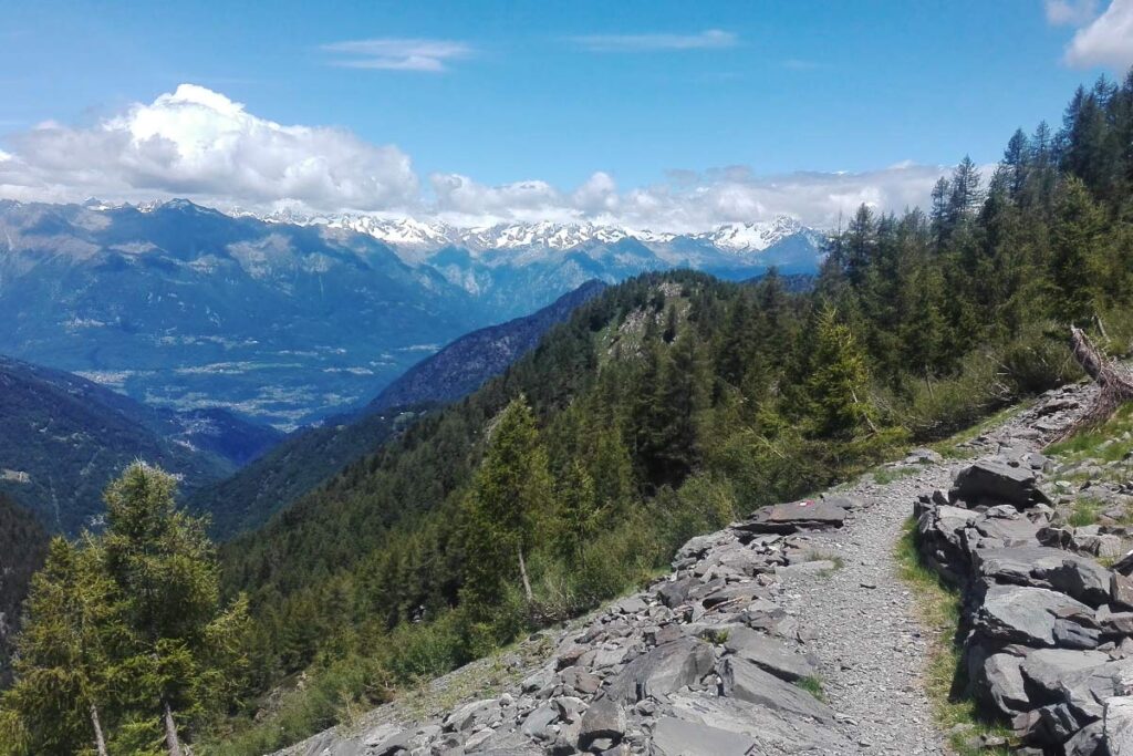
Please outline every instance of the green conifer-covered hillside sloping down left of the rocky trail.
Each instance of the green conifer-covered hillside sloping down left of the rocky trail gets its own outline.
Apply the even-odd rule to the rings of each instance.
[[[1123,348],[1131,134],[1133,77],[1100,80],[1057,131],[1016,133],[989,180],[964,159],[927,213],[862,207],[812,291],[670,273],[604,292],[224,551],[259,683],[343,659],[442,671],[738,512],[1066,380],[1067,323]]]

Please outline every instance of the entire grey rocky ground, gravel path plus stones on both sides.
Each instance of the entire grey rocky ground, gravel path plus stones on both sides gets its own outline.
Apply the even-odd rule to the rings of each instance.
[[[971,659],[981,663],[1006,649],[1007,657],[996,661],[1005,663],[1014,682],[1022,674],[1016,661],[1026,657],[1028,640],[1038,644],[1034,648],[1054,648],[1071,638],[1074,653],[1104,654],[1106,662],[1119,656],[1116,648],[1133,646],[1110,637],[1124,617],[1099,619],[1104,612],[1128,614],[1121,606],[1108,608],[1110,571],[1096,561],[1124,553],[1124,530],[1059,527],[1089,481],[1077,475],[1065,486],[1048,485],[1043,470],[1058,478],[1059,462],[1038,452],[1075,419],[1091,392],[1088,387],[1050,392],[952,450],[953,459],[917,450],[851,486],[760,510],[725,530],[693,538],[676,555],[673,572],[648,588],[564,630],[545,631],[442,678],[352,728],[327,731],[283,753],[947,753],[922,685],[928,636],[895,561],[895,545],[914,510],[928,558],[969,589],[972,618],[990,618],[983,625],[990,630],[973,634],[977,640],[970,645],[981,651]],[[1113,496],[1122,495],[1124,490],[1114,487]],[[1104,517],[1116,515],[1121,502],[1107,501],[1111,511]],[[989,523],[999,527],[990,536]],[[987,555],[986,549],[1016,545],[1011,538],[1004,542],[1004,534],[1034,537],[1033,547],[1056,553],[973,558],[977,551]],[[1030,561],[1019,563],[1023,558]],[[1036,559],[1038,572],[1032,569]],[[982,583],[972,579],[973,562],[983,566],[976,568]],[[1124,589],[1124,583],[1118,585]],[[1058,586],[1076,598],[1057,593]],[[1029,589],[1060,598],[1025,604],[1013,614],[1017,596],[999,602],[994,593],[999,588],[1005,596]],[[981,603],[985,595],[995,601]],[[1002,612],[999,604],[1006,606]],[[1084,609],[1076,614],[1067,610],[1079,605]],[[1034,637],[1023,638],[1025,631]],[[1101,657],[1076,661],[1075,670],[1092,669]],[[1046,694],[1054,695],[1051,677],[1042,679]],[[977,693],[993,700],[986,676],[981,680]],[[1033,687],[1020,682],[1024,685]],[[1105,694],[1101,688],[1090,689]],[[1064,753],[1058,750],[1062,742],[1083,728],[1097,733],[1081,738],[1083,742],[1102,737],[1102,725],[1093,724],[1101,721],[1100,713],[1089,719],[1064,702],[1063,708],[1033,714],[1054,704],[1028,700],[1034,706],[1026,708],[1019,700],[1023,687],[1004,695],[1012,702],[1005,715],[1028,715],[1016,722],[1028,744],[1048,747],[1038,738],[1063,728],[1053,736],[1062,740],[1046,753]],[[1101,708],[1096,703],[1090,711]],[[1114,711],[1116,716],[1118,708]],[[1110,750],[1111,756],[1126,753]]]

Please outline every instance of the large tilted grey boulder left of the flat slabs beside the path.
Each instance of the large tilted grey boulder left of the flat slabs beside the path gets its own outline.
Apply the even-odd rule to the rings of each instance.
[[[696,638],[681,638],[638,656],[610,682],[607,695],[620,703],[636,703],[649,696],[680,690],[698,683],[715,663],[712,646]]]

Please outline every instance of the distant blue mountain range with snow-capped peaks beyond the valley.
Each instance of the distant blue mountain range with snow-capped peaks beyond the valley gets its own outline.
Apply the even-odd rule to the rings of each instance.
[[[820,241],[786,218],[673,235],[0,201],[0,354],[290,431],[361,407],[440,345],[586,281],[808,272]]]

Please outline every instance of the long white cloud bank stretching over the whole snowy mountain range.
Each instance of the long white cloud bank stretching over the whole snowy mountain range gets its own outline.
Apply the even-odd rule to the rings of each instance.
[[[750,167],[670,170],[641,187],[604,171],[573,188],[531,179],[497,186],[437,172],[425,187],[407,154],[343,129],[282,126],[185,84],[84,127],[44,121],[0,151],[0,197],[50,202],[188,197],[222,210],[377,212],[462,226],[593,221],[693,231],[786,213],[830,227],[861,203],[925,205],[945,169],[898,163],[864,172],[760,176]]]

